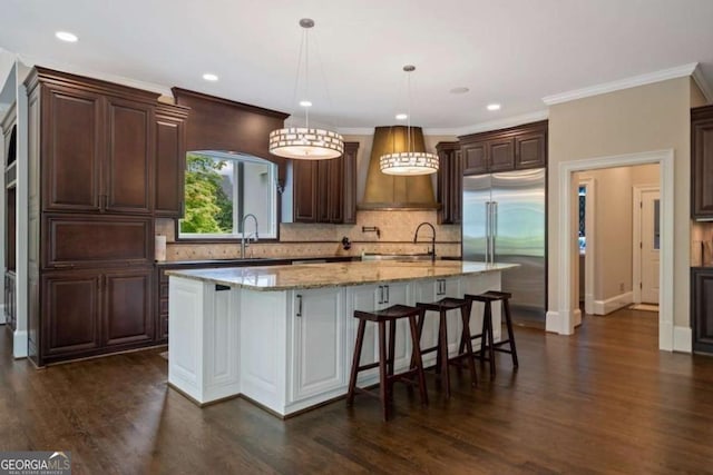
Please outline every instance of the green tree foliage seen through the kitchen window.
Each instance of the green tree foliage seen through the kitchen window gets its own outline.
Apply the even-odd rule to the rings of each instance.
[[[233,231],[233,201],[222,188],[225,160],[188,154],[186,157],[186,214],[182,232],[222,234]]]

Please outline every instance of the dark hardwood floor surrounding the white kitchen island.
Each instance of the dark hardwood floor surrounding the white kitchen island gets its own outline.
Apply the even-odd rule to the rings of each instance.
[[[0,327],[0,330],[3,329]],[[280,420],[243,399],[199,409],[159,350],[45,370],[0,338],[0,451],[71,451],[75,473],[713,473],[713,358],[657,350],[657,314],[585,317],[574,337],[516,328],[520,368],[467,372],[395,414],[358,396]],[[455,374],[453,374],[455,375]]]

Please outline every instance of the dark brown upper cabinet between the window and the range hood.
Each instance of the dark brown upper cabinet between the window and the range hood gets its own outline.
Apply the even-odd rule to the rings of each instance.
[[[293,160],[295,222],[356,222],[358,142],[331,160]]]

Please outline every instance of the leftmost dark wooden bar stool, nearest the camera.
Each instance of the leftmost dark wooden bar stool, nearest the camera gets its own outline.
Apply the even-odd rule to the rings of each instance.
[[[359,328],[356,329],[356,344],[354,346],[354,359],[352,362],[351,376],[349,378],[349,393],[346,395],[346,405],[351,406],[354,403],[354,393],[368,394],[370,396],[377,396],[381,399],[381,406],[383,409],[383,419],[389,419],[390,403],[392,402],[392,388],[395,382],[406,382],[413,384],[413,377],[416,377],[416,384],[419,386],[419,393],[421,395],[421,404],[428,404],[428,394],[426,393],[426,377],[423,376],[423,364],[421,362],[421,353],[419,352],[419,333],[417,328],[417,316],[422,318],[423,310],[416,307],[409,307],[406,305],[393,305],[383,310],[374,311],[354,311],[354,318],[359,318]],[[395,347],[395,329],[397,320],[399,318],[408,318],[409,326],[411,328],[411,344],[413,347],[411,356],[410,368],[406,372],[393,374],[393,359]],[[367,321],[374,321],[379,327],[379,362],[370,363],[367,365],[359,365],[361,359],[361,349],[364,343],[364,329],[367,328]],[[387,354],[387,323],[389,323],[389,352]],[[359,372],[379,367],[379,395],[374,393],[356,387],[356,375]]]

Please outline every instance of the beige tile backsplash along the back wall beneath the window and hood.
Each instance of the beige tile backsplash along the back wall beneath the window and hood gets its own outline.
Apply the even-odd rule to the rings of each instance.
[[[280,225],[280,241],[251,243],[246,257],[316,257],[359,256],[361,253],[426,253],[430,247],[431,230],[422,228],[419,243],[413,234],[420,222],[436,227],[436,254],[460,256],[460,226],[437,225],[437,211],[380,211],[356,212],[355,225]],[[362,231],[362,227],[375,227]],[[175,241],[173,219],[157,219],[156,234],[166,236],[166,260],[226,259],[241,257],[240,243],[191,244]],[[342,248],[342,238],[352,243],[349,250]]]

